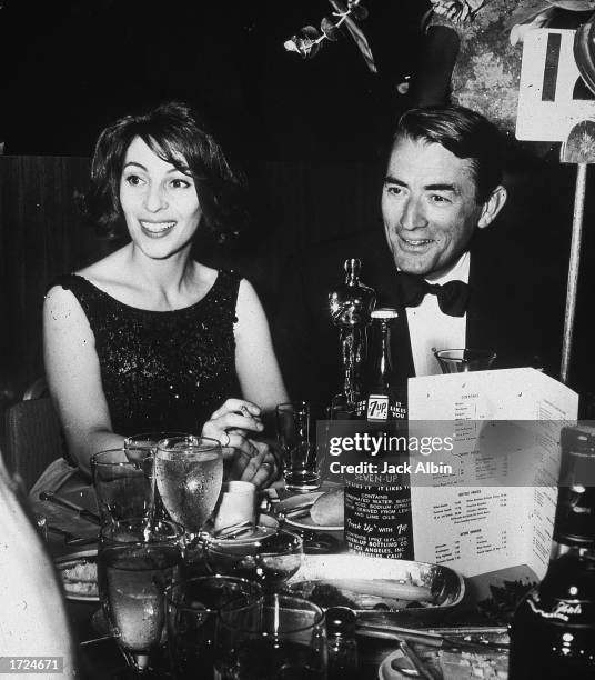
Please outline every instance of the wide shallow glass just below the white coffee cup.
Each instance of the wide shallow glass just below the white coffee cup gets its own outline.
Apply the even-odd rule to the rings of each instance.
[[[206,566],[213,573],[242,577],[272,592],[301,567],[303,540],[293,531],[256,526],[241,534],[220,531],[204,546]]]

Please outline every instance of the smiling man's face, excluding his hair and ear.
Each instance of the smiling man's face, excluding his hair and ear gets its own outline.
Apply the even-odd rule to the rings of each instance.
[[[428,276],[453,266],[482,216],[475,193],[468,160],[437,143],[399,139],[382,191],[384,229],[396,267]]]

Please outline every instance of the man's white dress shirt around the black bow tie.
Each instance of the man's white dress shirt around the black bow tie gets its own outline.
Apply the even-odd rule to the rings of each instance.
[[[450,271],[436,278],[426,278],[426,281],[441,286],[455,280],[468,283],[470,259],[468,251],[464,252]],[[466,312],[463,317],[450,317],[442,312],[436,296],[432,293],[426,293],[418,307],[407,307],[411,351],[416,376],[442,373],[434,350],[464,348],[466,322]]]

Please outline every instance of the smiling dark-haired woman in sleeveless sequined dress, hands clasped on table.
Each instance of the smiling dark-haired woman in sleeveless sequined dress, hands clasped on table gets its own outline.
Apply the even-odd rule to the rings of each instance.
[[[179,430],[241,449],[241,479],[263,486],[276,474],[272,451],[252,438],[263,411],[286,401],[263,309],[245,279],[190,257],[199,229],[234,228],[240,193],[183,104],[101,133],[85,210],[130,242],[57,280],[43,309],[47,379],[83,473],[125,436]]]

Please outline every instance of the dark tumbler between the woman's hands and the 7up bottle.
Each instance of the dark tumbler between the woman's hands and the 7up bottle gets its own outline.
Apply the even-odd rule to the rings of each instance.
[[[291,491],[320,487],[316,421],[326,418],[323,407],[306,401],[280,403],[275,409],[276,437],[283,454],[283,478]]]

